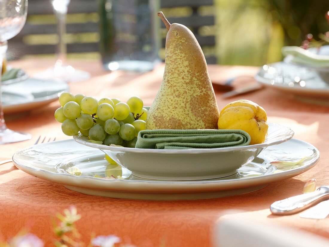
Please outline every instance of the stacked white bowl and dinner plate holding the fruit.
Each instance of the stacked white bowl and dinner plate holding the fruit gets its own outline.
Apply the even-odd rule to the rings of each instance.
[[[205,199],[261,189],[312,168],[319,151],[269,125],[265,143],[244,147],[155,150],[106,146],[83,136],[34,145],[13,155],[33,176],[88,194],[147,200]],[[108,154],[117,164],[105,160]]]

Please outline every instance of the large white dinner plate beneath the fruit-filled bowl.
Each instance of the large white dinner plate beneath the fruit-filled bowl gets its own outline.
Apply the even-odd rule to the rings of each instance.
[[[191,200],[255,191],[309,170],[319,158],[320,153],[316,147],[291,139],[268,147],[236,174],[225,178],[159,181],[134,177],[129,170],[109,164],[102,151],[68,139],[24,148],[13,155],[13,163],[28,174],[88,195],[145,200]],[[273,161],[290,161],[296,164],[285,165],[279,162],[274,166],[274,163],[270,163]],[[79,171],[81,175],[68,173],[72,171]],[[95,175],[107,175],[110,178],[97,178]],[[118,175],[122,178],[117,178]]]

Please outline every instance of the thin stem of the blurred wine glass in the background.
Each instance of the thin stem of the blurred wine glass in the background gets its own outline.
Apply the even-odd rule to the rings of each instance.
[[[58,46],[57,59],[61,60],[63,64],[66,62],[66,14],[67,12],[56,12],[57,17],[57,32],[58,32]]]

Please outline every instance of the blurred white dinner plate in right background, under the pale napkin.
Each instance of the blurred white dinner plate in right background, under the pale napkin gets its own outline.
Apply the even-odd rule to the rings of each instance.
[[[316,104],[328,104],[329,84],[314,71],[286,62],[264,65],[255,79],[267,87]]]

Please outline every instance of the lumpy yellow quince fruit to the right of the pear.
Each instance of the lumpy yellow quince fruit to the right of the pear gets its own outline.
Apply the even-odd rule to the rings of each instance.
[[[265,110],[250,100],[233,101],[219,114],[218,129],[243,130],[250,137],[250,145],[263,143],[267,137],[268,124]]]

